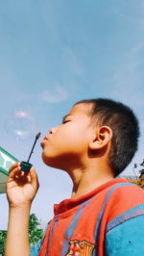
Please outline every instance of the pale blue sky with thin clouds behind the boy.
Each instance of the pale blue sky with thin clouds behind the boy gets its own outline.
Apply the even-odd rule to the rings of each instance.
[[[125,170],[132,174],[133,163],[144,158],[143,67],[143,0],[1,1],[0,146],[26,160],[36,131],[42,139],[80,99],[109,97],[132,107],[140,121],[139,150]],[[25,118],[14,118],[15,112]],[[18,121],[24,140],[14,135]],[[39,141],[31,161],[40,182],[32,212],[46,222],[53,204],[70,196],[71,181],[44,166]],[[6,194],[0,194],[0,205],[2,229]]]

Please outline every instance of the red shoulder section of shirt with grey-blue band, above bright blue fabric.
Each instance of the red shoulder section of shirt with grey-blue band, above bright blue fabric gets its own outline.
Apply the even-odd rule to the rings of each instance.
[[[108,217],[107,232],[127,220],[144,216],[144,191],[132,183],[117,185],[108,192],[111,194],[105,211]]]

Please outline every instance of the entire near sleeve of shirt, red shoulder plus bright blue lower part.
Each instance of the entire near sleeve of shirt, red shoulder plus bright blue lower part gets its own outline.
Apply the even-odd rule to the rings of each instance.
[[[114,186],[108,199],[107,255],[143,255],[144,191],[131,183]]]

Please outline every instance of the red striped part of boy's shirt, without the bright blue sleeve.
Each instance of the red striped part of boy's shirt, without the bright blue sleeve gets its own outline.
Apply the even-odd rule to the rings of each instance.
[[[76,199],[65,199],[54,206],[38,255],[105,255],[108,230],[144,215],[141,205],[143,190],[117,178]]]

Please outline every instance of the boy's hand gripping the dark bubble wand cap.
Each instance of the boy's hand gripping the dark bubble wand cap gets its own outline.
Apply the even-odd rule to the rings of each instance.
[[[36,170],[31,168],[30,172],[21,171],[20,163],[15,163],[10,168],[7,181],[7,197],[12,208],[24,204],[31,204],[38,190]]]

